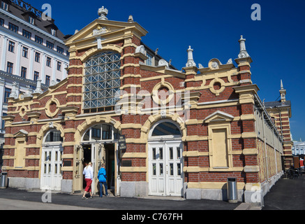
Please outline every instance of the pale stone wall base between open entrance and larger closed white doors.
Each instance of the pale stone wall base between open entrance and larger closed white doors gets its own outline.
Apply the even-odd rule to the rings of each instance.
[[[121,197],[146,197],[148,196],[148,183],[144,181],[122,181],[120,186]]]

